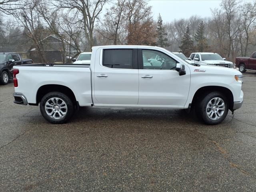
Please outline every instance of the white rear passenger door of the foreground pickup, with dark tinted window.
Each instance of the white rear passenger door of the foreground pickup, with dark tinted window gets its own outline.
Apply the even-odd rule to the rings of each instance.
[[[138,104],[137,49],[103,49],[95,63],[95,106]]]

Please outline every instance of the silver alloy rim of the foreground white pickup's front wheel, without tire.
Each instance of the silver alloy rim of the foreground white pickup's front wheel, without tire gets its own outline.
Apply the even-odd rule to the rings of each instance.
[[[222,98],[211,99],[206,106],[206,114],[211,120],[219,119],[225,112],[225,103]]]

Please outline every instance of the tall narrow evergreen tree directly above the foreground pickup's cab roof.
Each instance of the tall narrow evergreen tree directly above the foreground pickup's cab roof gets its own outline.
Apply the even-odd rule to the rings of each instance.
[[[157,37],[158,37],[158,42],[157,45],[160,47],[168,47],[170,44],[168,44],[168,39],[166,38],[167,32],[165,27],[163,26],[163,20],[161,15],[159,14],[157,17]]]

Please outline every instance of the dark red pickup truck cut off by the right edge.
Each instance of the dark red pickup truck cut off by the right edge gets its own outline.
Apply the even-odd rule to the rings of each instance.
[[[237,57],[236,66],[239,71],[244,73],[246,70],[256,70],[256,52],[253,52],[250,57]]]

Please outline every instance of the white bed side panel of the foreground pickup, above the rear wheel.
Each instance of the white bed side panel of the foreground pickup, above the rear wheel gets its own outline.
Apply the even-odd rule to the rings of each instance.
[[[61,85],[74,93],[80,106],[91,106],[91,70],[88,64],[25,64],[14,66],[19,73],[16,92],[23,93],[29,104],[37,104],[38,90],[45,85]]]

